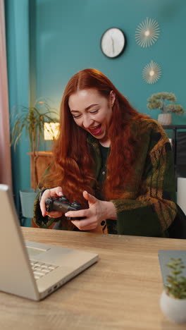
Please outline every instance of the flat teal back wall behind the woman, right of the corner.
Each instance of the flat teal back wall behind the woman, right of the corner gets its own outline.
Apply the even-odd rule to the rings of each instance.
[[[185,104],[185,0],[37,0],[36,8],[37,97],[60,103],[68,79],[83,68],[98,68],[140,111],[154,92],[175,92]],[[160,25],[159,40],[143,49],[135,42],[135,29],[146,17]],[[120,27],[128,45],[118,59],[101,53],[99,42],[108,27]],[[142,80],[142,69],[153,59],[162,68],[154,85]],[[186,107],[186,106],[185,106]],[[182,122],[177,116],[174,122]],[[186,122],[186,114],[185,114]]]

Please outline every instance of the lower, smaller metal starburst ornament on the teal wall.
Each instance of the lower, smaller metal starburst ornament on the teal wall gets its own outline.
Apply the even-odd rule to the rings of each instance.
[[[142,76],[147,84],[154,84],[161,77],[161,66],[158,63],[151,61],[144,67]]]

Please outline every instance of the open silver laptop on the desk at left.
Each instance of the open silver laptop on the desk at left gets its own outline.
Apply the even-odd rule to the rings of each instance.
[[[0,184],[0,205],[0,291],[42,300],[97,262],[96,253],[23,240],[8,185]]]

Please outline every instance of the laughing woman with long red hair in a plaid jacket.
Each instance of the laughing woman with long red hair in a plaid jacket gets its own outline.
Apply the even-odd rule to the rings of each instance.
[[[35,202],[38,226],[58,221],[68,230],[168,236],[176,214],[169,140],[101,72],[85,69],[68,82],[53,151]],[[46,212],[46,198],[61,195],[84,209]]]

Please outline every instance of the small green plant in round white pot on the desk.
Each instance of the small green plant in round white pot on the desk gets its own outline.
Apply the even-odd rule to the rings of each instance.
[[[185,265],[181,258],[171,258],[167,265],[171,269],[161,294],[160,307],[163,314],[175,323],[186,322],[186,277],[182,276]]]

